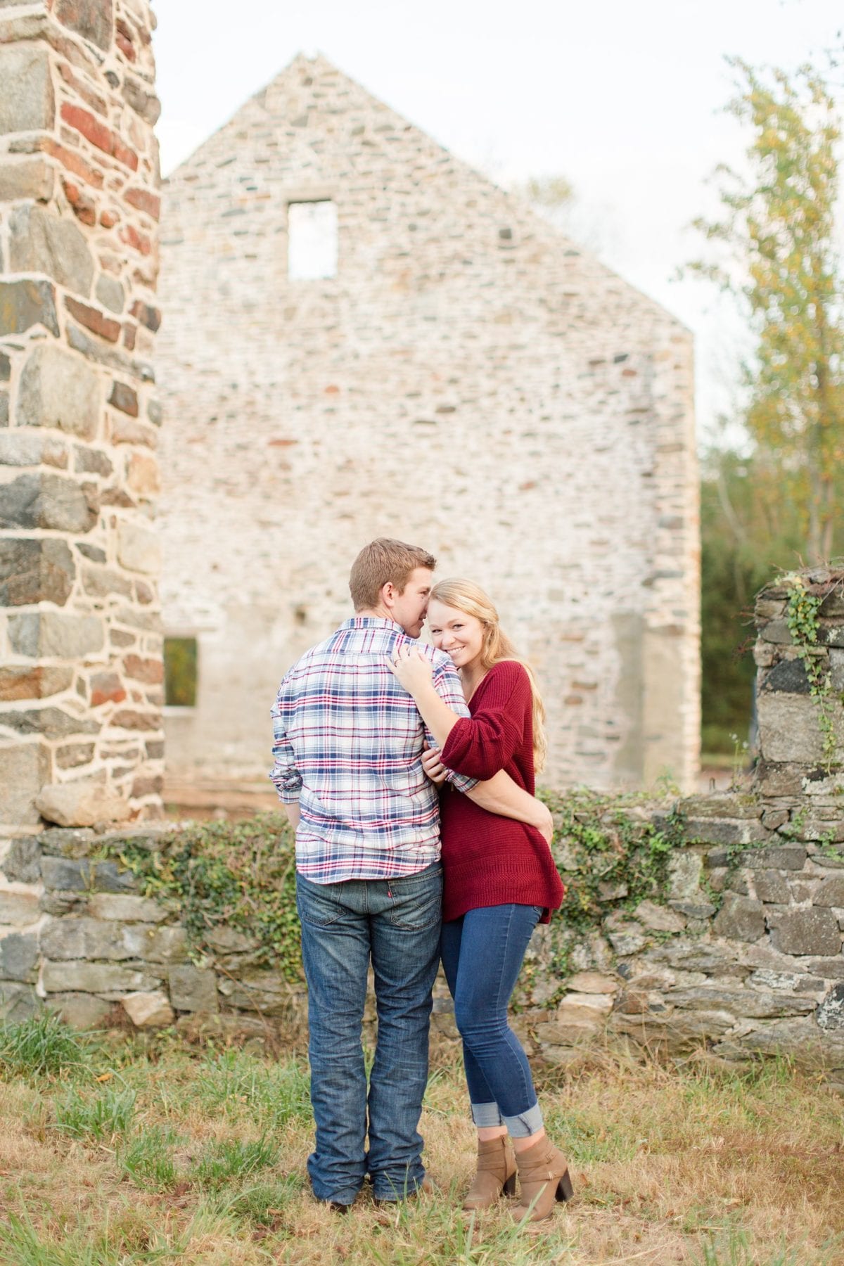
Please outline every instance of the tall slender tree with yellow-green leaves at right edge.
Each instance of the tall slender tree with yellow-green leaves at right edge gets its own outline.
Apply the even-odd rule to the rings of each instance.
[[[745,367],[745,422],[755,444],[757,500],[797,509],[793,547],[831,557],[844,456],[844,298],[835,246],[840,124],[822,77],[802,67],[772,82],[745,62],[728,109],[753,129],[747,176],[719,167],[724,216],[697,220],[724,248],[691,268],[736,295],[758,337]]]

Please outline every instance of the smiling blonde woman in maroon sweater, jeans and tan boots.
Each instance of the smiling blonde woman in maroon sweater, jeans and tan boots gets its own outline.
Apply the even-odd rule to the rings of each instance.
[[[545,753],[544,708],[533,674],[499,627],[499,615],[471,581],[445,580],[431,590],[428,623],[434,646],[461,675],[471,719],[458,718],[431,685],[430,663],[400,648],[394,672],[414,696],[439,751],[425,770],[442,782],[445,768],[476,779],[499,770],[531,795]],[[516,1217],[549,1218],[554,1199],[572,1195],[566,1157],[545,1136],[530,1066],[507,1024],[528,942],[563,899],[550,851],[535,827],[501,818],[468,796],[443,790],[442,956],[454,1018],[463,1038],[478,1165],[464,1201],[483,1209],[502,1191],[521,1195]],[[509,1137],[507,1137],[509,1136]],[[511,1141],[511,1142],[510,1142]]]

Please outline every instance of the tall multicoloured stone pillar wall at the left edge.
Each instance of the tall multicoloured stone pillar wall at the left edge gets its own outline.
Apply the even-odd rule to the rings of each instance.
[[[0,823],[19,827],[161,809],[153,25],[144,0],[0,5]]]

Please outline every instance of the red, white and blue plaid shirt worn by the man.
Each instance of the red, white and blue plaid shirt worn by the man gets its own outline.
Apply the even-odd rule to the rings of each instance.
[[[431,661],[440,699],[468,717],[448,656],[371,615],[306,651],[278,689],[270,777],[283,801],[299,800],[296,868],[315,884],[414,875],[439,858],[439,799],[420,760],[423,741],[435,743],[387,662],[402,643]],[[461,791],[475,786],[448,776]]]

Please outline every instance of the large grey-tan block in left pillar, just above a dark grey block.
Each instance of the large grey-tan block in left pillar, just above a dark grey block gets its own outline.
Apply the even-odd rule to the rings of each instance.
[[[11,272],[46,272],[78,295],[91,292],[94,260],[85,234],[75,220],[32,203],[9,216],[9,267]]]

